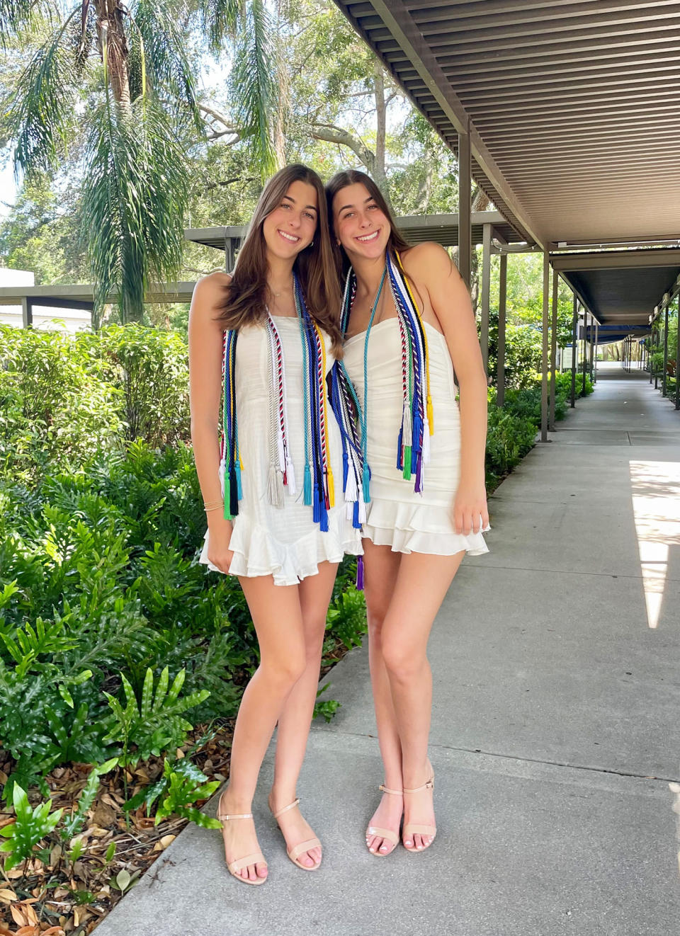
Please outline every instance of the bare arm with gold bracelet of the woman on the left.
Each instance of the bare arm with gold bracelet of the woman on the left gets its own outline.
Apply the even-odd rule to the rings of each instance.
[[[189,310],[189,401],[191,407],[191,441],[199,475],[203,501],[222,500],[217,469],[219,467],[219,404],[222,392],[223,329],[214,321],[224,274],[206,276],[194,287]],[[224,511],[206,513],[210,529],[208,558],[217,568],[227,572],[231,561],[229,539],[231,522]]]

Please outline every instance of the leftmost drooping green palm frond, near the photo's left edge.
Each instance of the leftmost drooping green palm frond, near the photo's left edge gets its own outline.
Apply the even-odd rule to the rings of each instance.
[[[75,13],[75,11],[74,11]],[[31,178],[53,168],[74,120],[73,57],[69,44],[74,13],[33,56],[12,94],[7,125],[17,139],[14,169]]]

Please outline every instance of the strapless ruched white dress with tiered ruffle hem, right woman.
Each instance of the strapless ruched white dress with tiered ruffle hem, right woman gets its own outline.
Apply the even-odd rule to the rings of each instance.
[[[362,535],[392,552],[426,552],[451,556],[465,549],[472,556],[488,552],[481,533],[457,534],[451,523],[453,496],[460,478],[461,423],[451,355],[446,339],[429,325],[430,393],[435,432],[430,436],[430,463],[424,466],[423,490],[413,490],[396,467],[397,437],[402,419],[402,344],[399,321],[385,318],[368,339],[367,443],[371,469],[371,503]],[[345,366],[363,402],[365,331],[345,343]],[[489,529],[488,527],[486,528]]]

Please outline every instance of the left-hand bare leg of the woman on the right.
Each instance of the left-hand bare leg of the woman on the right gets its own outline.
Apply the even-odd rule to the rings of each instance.
[[[384,783],[389,789],[401,790],[402,749],[396,715],[392,703],[392,689],[385,661],[382,656],[382,623],[390,606],[392,592],[399,572],[401,553],[392,552],[388,546],[374,546],[370,539],[363,539],[364,594],[366,597],[366,619],[368,622],[368,660],[371,669],[373,702],[376,709],[377,738],[385,768]],[[399,834],[399,823],[404,812],[403,797],[385,793],[369,828],[380,826],[393,829]],[[369,851],[389,855],[395,847],[392,841],[382,836],[366,834]]]

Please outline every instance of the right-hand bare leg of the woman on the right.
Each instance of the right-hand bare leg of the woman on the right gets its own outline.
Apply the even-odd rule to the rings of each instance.
[[[402,557],[396,585],[382,627],[382,652],[402,748],[405,787],[429,779],[427,741],[432,710],[432,673],[427,660],[430,630],[465,552],[454,556],[410,553]],[[432,791],[404,797],[405,824],[434,825]],[[414,835],[404,842],[419,850],[431,837]]]

